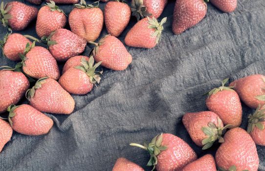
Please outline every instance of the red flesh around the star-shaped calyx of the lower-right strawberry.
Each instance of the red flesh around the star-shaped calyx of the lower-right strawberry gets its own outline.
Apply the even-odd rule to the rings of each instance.
[[[186,113],[182,118],[182,122],[193,142],[197,146],[202,147],[201,141],[208,136],[204,134],[201,128],[208,127],[209,122],[218,126],[218,115],[211,111]],[[221,123],[221,126],[223,127],[223,123]]]

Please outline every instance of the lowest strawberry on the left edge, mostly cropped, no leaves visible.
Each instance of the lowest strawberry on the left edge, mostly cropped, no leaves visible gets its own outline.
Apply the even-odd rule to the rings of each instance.
[[[11,139],[13,129],[11,126],[0,119],[0,152],[2,151],[4,145]]]

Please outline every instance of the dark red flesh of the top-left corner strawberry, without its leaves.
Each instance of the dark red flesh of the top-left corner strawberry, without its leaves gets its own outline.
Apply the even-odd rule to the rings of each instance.
[[[26,26],[32,20],[36,19],[38,15],[38,9],[32,6],[28,6],[24,3],[18,1],[8,2],[7,6],[12,6],[11,10],[8,11],[8,14],[12,16],[11,19],[8,20],[8,25],[14,31],[20,31],[26,28]]]

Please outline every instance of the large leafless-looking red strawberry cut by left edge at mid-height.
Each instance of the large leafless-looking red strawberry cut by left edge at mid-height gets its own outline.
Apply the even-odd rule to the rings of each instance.
[[[0,70],[0,113],[16,105],[28,87],[29,81],[21,72]]]

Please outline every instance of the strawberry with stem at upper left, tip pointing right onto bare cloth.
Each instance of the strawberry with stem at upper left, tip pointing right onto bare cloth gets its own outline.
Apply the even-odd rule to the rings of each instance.
[[[95,61],[102,61],[102,66],[112,70],[124,70],[132,63],[132,55],[127,51],[123,43],[114,36],[106,35],[95,44],[93,55]]]

